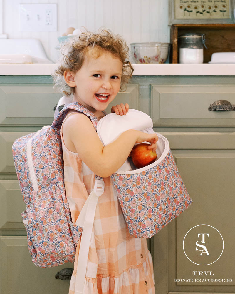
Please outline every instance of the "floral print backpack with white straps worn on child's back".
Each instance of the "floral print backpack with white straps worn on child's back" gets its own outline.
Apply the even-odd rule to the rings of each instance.
[[[103,179],[96,176],[95,187],[76,223],[72,223],[65,195],[63,151],[60,128],[69,109],[89,116],[96,128],[97,118],[79,103],[63,108],[51,126],[17,139],[12,146],[14,164],[26,210],[21,213],[27,231],[28,249],[35,265],[46,268],[75,260],[79,255],[80,288],[83,289],[93,221]],[[83,234],[81,235],[81,233]],[[82,249],[82,250],[81,250]]]

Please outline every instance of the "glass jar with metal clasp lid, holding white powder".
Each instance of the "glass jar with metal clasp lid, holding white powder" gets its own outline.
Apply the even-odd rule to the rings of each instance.
[[[205,35],[187,33],[179,36],[179,63],[203,63]]]

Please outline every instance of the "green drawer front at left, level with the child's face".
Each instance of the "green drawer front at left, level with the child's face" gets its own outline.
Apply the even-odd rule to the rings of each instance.
[[[61,93],[52,85],[11,85],[0,87],[0,125],[38,126],[53,122],[54,106]]]

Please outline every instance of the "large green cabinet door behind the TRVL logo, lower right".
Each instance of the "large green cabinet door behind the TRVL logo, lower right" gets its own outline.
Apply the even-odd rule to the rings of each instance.
[[[173,150],[172,152],[193,203],[154,236],[156,293],[235,292],[233,258],[235,152],[234,150]],[[224,240],[224,251],[221,251],[220,258],[204,266],[190,261],[183,248],[184,236],[191,228],[201,224],[216,228]],[[196,242],[201,240],[201,237],[197,233],[193,236],[192,250],[196,258],[200,258],[201,251],[196,250]],[[216,256],[218,246],[222,246],[213,240],[212,237],[206,240],[208,243],[206,246],[210,248],[210,258],[213,258],[213,254]],[[164,278],[166,269],[167,278]],[[195,280],[199,278],[201,281]],[[203,278],[212,281],[202,281]],[[194,280],[185,282],[174,279]],[[225,281],[221,282],[219,279]]]

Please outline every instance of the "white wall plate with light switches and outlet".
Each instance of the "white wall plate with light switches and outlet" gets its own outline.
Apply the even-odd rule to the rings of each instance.
[[[20,4],[21,31],[57,31],[57,4]]]

